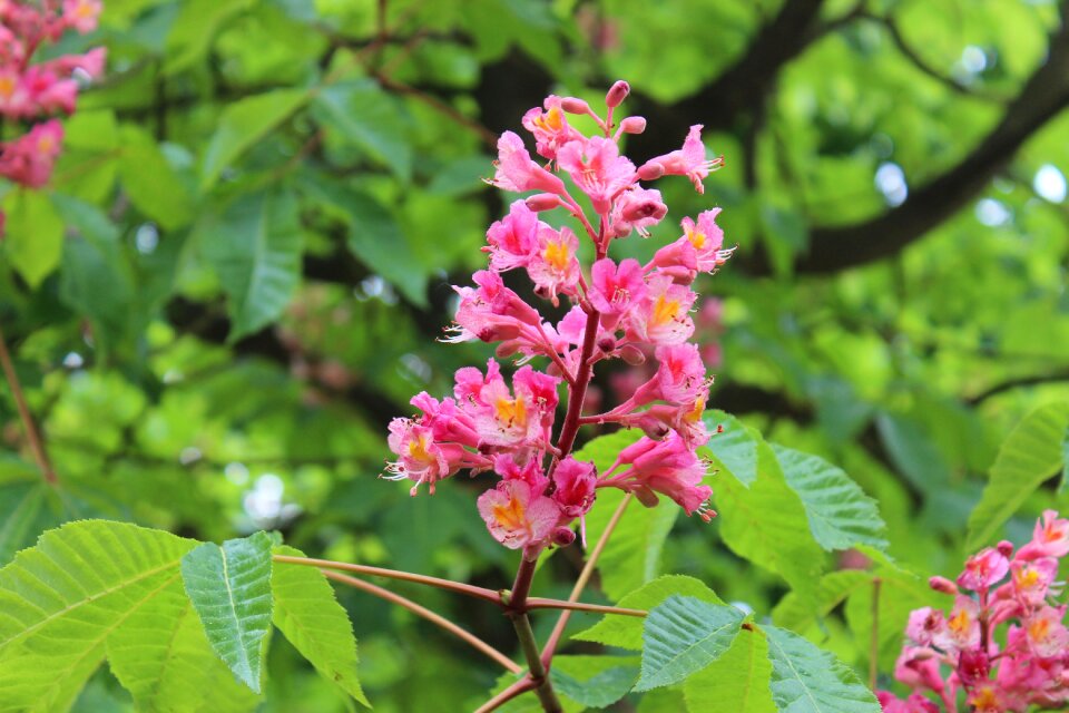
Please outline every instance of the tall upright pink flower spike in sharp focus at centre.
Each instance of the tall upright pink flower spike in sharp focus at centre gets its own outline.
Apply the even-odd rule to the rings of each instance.
[[[528,111],[523,126],[536,150],[548,163],[531,158],[517,134],[498,141],[496,174],[488,183],[510,192],[537,192],[511,204],[508,215],[487,232],[487,270],[473,275],[473,286],[454,287],[459,295],[455,324],[445,341],[497,342],[499,358],[520,364],[510,384],[494,360],[486,372],[461,369],[453,397],[442,401],[420,393],[414,418],[394,419],[390,449],[398,459],[388,466],[394,479],[415,481],[431,491],[434,484],[461,470],[492,470],[500,480],[479,498],[479,512],[491,535],[504,546],[536,557],[548,545],[575,539],[576,518],[589,511],[598,488],[632,492],[647,506],[658,495],[675,500],[688,515],[713,517],[705,505],[712,495],[702,485],[706,465],[695,450],[708,440],[702,414],[709,379],[697,345],[690,310],[697,295],[690,284],[702,272],[714,272],[730,256],[716,225],[719,209],[697,219],[684,218],[677,240],[641,264],[608,256],[612,241],[630,233],[644,237],[668,208],[649,182],[666,175],[686,176],[699,193],[702,180],[722,160],[707,159],[700,126],[694,126],[683,148],[636,168],[620,154],[625,134],[645,130],[641,117],[619,124],[614,110],[629,92],[618,81],[606,96],[599,116],[573,97],[547,97]],[[601,135],[585,136],[569,115],[585,117]],[[569,185],[570,184],[570,185]],[[572,191],[583,194],[592,216]],[[540,214],[563,209],[572,226],[553,227]],[[597,227],[595,227],[595,225]],[[589,241],[592,261],[580,261]],[[502,273],[522,270],[533,294],[568,310],[550,321],[538,307],[506,285]],[[658,365],[630,398],[611,411],[583,414],[587,387],[598,362],[622,359],[641,364],[656,355]],[[545,372],[529,363],[549,360]],[[558,391],[567,389],[566,413],[555,439]],[[604,472],[570,453],[582,424],[616,423],[639,428],[645,436],[624,449]]]

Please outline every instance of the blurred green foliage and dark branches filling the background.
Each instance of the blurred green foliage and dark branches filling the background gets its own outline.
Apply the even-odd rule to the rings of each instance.
[[[669,219],[621,251],[648,255],[683,215],[724,208],[739,248],[696,285],[723,307],[704,334],[723,355],[712,404],[877,501],[891,557],[922,576],[866,550],[881,617],[900,625],[932,602],[924,576],[957,574],[1009,430],[1069,399],[1065,14],[1043,0],[106,2],[96,33],[57,49],[104,43],[109,71],[66,121],[51,188],[0,187],[0,323],[60,479],[40,485],[3,390],[0,561],[101,516],[205,540],[278,529],[313,556],[506,585],[514,557],[475,514],[480,484],[413,499],[375,480],[385,424],[489,354],[433,340],[508,199],[480,182],[494,134],[547,92],[594,101],[626,78],[625,108],[650,121],[639,160],[700,123],[728,167],[705,196],[661,182]],[[598,394],[615,399],[604,375]],[[1066,507],[1066,447],[1049,447],[1050,472],[1028,473],[1020,508],[984,535],[1020,537]],[[743,479],[713,479],[720,508]],[[607,568],[591,598],[688,574],[867,665],[870,576],[784,598],[773,572],[807,574],[727,549],[747,524],[666,512],[630,533],[659,564],[638,582]],[[864,559],[838,558],[831,569]],[[555,556],[536,594],[567,596],[580,560]],[[396,588],[512,652],[493,611]],[[464,710],[494,686],[498,671],[425,622],[340,596],[376,710]],[[536,624],[545,636],[550,621]],[[881,628],[885,673],[898,645]],[[265,687],[264,711],[346,706],[282,637]],[[677,711],[681,695],[619,710]],[[76,710],[129,705],[102,672]]]

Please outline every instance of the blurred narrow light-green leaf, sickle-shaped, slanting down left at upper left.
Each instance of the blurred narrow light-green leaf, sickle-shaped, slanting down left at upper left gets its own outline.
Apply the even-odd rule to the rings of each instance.
[[[224,168],[293,116],[310,97],[304,89],[276,89],[227,105],[204,154],[200,191],[209,191]]]

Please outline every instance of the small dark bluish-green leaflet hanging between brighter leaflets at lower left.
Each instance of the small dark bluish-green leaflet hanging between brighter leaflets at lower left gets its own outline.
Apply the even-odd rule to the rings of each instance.
[[[186,594],[212,649],[259,693],[262,653],[271,629],[271,537],[205,543],[182,558]]]

